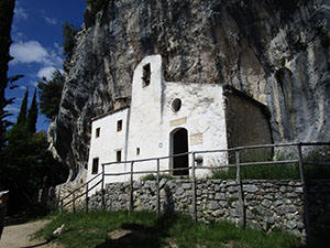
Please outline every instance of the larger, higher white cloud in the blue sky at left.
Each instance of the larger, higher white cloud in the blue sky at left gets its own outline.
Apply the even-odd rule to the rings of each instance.
[[[50,54],[38,42],[29,41],[29,42],[19,42],[14,43],[10,47],[10,54],[14,57],[11,62],[16,63],[45,63]]]

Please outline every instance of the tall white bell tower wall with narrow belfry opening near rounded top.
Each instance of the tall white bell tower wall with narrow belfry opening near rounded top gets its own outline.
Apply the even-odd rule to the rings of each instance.
[[[143,66],[151,65],[151,82],[143,87]],[[129,125],[128,159],[146,159],[168,155],[162,148],[162,57],[145,57],[134,71]],[[140,154],[136,154],[136,149]],[[156,169],[156,162],[136,163],[136,171]]]

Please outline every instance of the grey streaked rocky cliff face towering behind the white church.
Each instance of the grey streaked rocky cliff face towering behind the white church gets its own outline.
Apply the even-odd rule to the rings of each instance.
[[[110,0],[85,23],[50,127],[72,179],[87,165],[90,118],[120,107],[155,53],[166,80],[229,84],[267,105],[275,142],[330,140],[327,0]]]

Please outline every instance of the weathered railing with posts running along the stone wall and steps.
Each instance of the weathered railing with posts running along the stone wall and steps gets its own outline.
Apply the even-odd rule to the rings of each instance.
[[[241,168],[242,166],[250,166],[250,165],[270,165],[270,164],[298,164],[299,168],[299,177],[301,180],[301,185],[302,185],[302,191],[304,191],[304,197],[305,200],[308,200],[307,197],[307,190],[306,190],[306,176],[305,176],[305,170],[304,165],[305,164],[322,164],[322,165],[330,165],[330,161],[318,161],[318,162],[304,162],[302,160],[302,147],[317,147],[317,145],[330,145],[330,142],[299,142],[299,143],[275,143],[275,144],[260,144],[260,145],[248,145],[248,147],[238,147],[238,148],[232,148],[232,149],[227,149],[227,150],[206,150],[206,151],[191,151],[191,152],[186,152],[182,154],[175,154],[175,155],[169,155],[169,157],[158,157],[158,158],[150,158],[150,159],[141,159],[141,160],[130,160],[130,161],[121,161],[121,162],[108,162],[108,163],[102,163],[102,172],[90,179],[87,183],[84,185],[79,186],[76,188],[74,192],[69,193],[67,196],[61,200],[61,212],[64,207],[68,206],[69,204],[73,204],[73,211],[76,211],[76,201],[79,197],[82,197],[85,195],[86,202],[85,202],[85,209],[88,211],[88,193],[97,187],[99,184],[101,184],[101,198],[102,198],[102,207],[106,207],[105,204],[105,183],[106,183],[106,177],[107,176],[120,176],[120,175],[130,175],[130,212],[133,211],[134,208],[134,200],[133,200],[133,176],[134,174],[155,174],[156,175],[156,212],[160,213],[161,211],[161,205],[160,205],[160,175],[161,173],[167,173],[167,172],[176,172],[176,171],[189,171],[190,173],[190,182],[191,182],[191,202],[193,202],[193,207],[191,207],[191,215],[195,219],[197,219],[197,200],[196,200],[196,171],[197,170],[217,170],[217,169],[226,169],[226,168],[235,168],[237,169],[237,176],[235,181],[239,185],[239,204],[240,204],[240,219],[241,219],[241,225],[245,225],[245,212],[244,212],[244,201],[243,201],[243,185],[242,185],[242,179],[241,179]],[[294,148],[295,154],[297,155],[296,159],[286,159],[282,161],[258,161],[258,162],[241,162],[241,153],[243,150],[251,150],[251,149],[274,149],[274,148]],[[215,166],[208,166],[208,165],[201,165],[201,166],[196,166],[196,155],[201,154],[201,153],[216,153],[216,152],[223,152],[223,153],[229,153],[233,152],[234,153],[234,163],[230,164],[229,162],[226,164],[220,164],[220,165],[215,165]],[[190,155],[190,165],[187,168],[178,168],[178,169],[166,169],[166,170],[161,170],[161,161],[162,160],[169,160],[176,157],[183,157],[183,155]],[[147,171],[134,171],[134,164],[138,163],[143,163],[143,162],[150,162],[150,161],[155,161],[156,162],[156,169],[155,170],[147,170]],[[130,171],[128,172],[121,172],[121,173],[106,173],[106,166],[113,165],[113,164],[130,164]],[[99,179],[101,177],[101,179]],[[99,181],[97,181],[99,179]],[[96,183],[89,187],[89,184],[92,182]],[[84,193],[80,193],[78,195],[77,192],[79,192],[82,187],[86,188]],[[66,202],[64,204],[64,201],[69,198],[72,196],[72,200]],[[308,204],[306,204],[307,207]],[[307,212],[307,209],[305,209]],[[308,223],[308,219],[307,219]]]

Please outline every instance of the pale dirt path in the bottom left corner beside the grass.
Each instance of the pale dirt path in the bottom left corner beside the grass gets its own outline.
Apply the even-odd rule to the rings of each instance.
[[[31,235],[43,228],[47,223],[50,220],[6,226],[0,239],[0,248],[64,248],[64,246],[57,244],[47,244],[45,240],[30,240]]]

